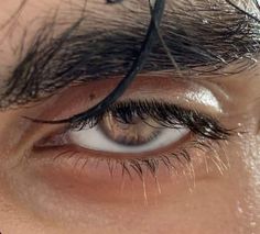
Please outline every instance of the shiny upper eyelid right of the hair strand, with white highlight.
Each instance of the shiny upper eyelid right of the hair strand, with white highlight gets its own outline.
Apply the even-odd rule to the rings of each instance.
[[[154,76],[152,80],[149,80],[149,75],[140,76],[138,79],[119,101],[148,100],[152,97],[162,102],[174,102],[187,109],[195,107],[197,111],[218,115],[225,113],[224,105],[229,100],[228,93],[214,82],[181,81],[160,75]]]

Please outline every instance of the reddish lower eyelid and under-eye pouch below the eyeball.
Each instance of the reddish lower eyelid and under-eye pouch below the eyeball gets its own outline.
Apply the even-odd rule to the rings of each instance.
[[[143,186],[149,199],[161,194],[167,197],[173,196],[170,191],[191,189],[194,174],[198,181],[206,177],[210,167],[214,167],[210,171],[225,170],[220,158],[217,166],[213,163],[219,147],[219,143],[214,142],[191,134],[178,145],[134,157],[131,154],[111,155],[83,149],[75,145],[35,146],[29,161],[35,175],[51,188],[58,188],[57,192],[69,197],[79,197],[84,203],[129,202],[133,197],[143,202]],[[210,151],[214,151],[214,156]],[[151,164],[144,163],[148,160]]]

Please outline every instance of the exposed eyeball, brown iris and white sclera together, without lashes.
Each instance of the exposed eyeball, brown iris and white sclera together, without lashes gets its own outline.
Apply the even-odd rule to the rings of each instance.
[[[188,133],[187,127],[162,127],[149,118],[123,123],[108,114],[95,127],[71,131],[68,141],[94,151],[137,154],[177,143]]]

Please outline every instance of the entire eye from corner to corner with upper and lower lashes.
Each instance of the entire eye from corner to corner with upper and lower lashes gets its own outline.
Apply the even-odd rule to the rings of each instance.
[[[188,165],[191,149],[203,154],[231,134],[214,118],[194,110],[156,100],[128,100],[101,115],[71,123],[36,143],[34,151],[50,152],[55,159],[75,157],[85,166],[90,158],[120,166],[128,175],[149,170],[156,176],[159,169],[176,169],[176,161]]]

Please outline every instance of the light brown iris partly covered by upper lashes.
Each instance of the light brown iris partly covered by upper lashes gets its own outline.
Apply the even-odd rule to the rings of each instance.
[[[148,144],[162,131],[150,118],[141,120],[134,116],[131,123],[123,123],[112,114],[104,116],[100,129],[109,140],[127,146]]]

